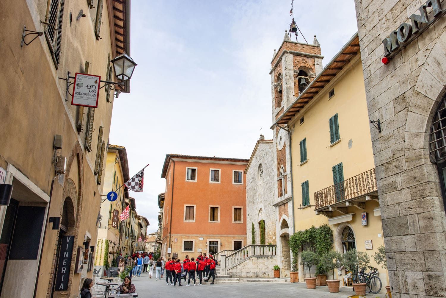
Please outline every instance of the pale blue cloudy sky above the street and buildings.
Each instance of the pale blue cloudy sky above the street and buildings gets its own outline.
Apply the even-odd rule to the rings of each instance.
[[[110,143],[126,147],[130,176],[146,164],[136,212],[158,229],[157,195],[169,153],[249,159],[272,139],[271,59],[289,29],[291,0],[132,0],[131,92],[115,98]],[[354,0],[294,0],[323,66],[357,31]],[[295,40],[294,34],[292,36]],[[305,42],[301,34],[299,42]]]

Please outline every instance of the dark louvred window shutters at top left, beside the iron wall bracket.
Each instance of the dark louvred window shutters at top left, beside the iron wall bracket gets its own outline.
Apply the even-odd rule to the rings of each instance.
[[[56,69],[60,62],[60,50],[62,42],[62,24],[63,24],[63,8],[65,0],[51,0],[50,11],[48,12],[48,20],[45,28],[45,38],[50,48]]]

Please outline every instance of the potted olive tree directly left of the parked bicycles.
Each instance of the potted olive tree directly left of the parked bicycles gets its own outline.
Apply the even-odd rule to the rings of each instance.
[[[365,282],[359,282],[358,271],[359,268],[365,268],[370,264],[370,256],[366,252],[360,252],[356,249],[351,249],[343,254],[343,265],[352,273],[353,290],[356,295],[365,295]]]

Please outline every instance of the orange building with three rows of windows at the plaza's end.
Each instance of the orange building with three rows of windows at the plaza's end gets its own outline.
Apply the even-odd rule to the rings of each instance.
[[[161,202],[161,256],[243,248],[248,159],[166,155]]]

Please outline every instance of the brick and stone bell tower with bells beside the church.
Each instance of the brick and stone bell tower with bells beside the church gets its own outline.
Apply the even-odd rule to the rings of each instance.
[[[294,20],[293,20],[294,21]],[[291,41],[285,37],[271,61],[271,94],[273,123],[295,101],[308,84],[322,71],[321,45],[314,35],[313,44]],[[273,206],[277,212],[277,256],[281,269],[291,269],[289,236],[294,233],[291,189],[289,127],[272,127],[276,159],[277,189]]]

